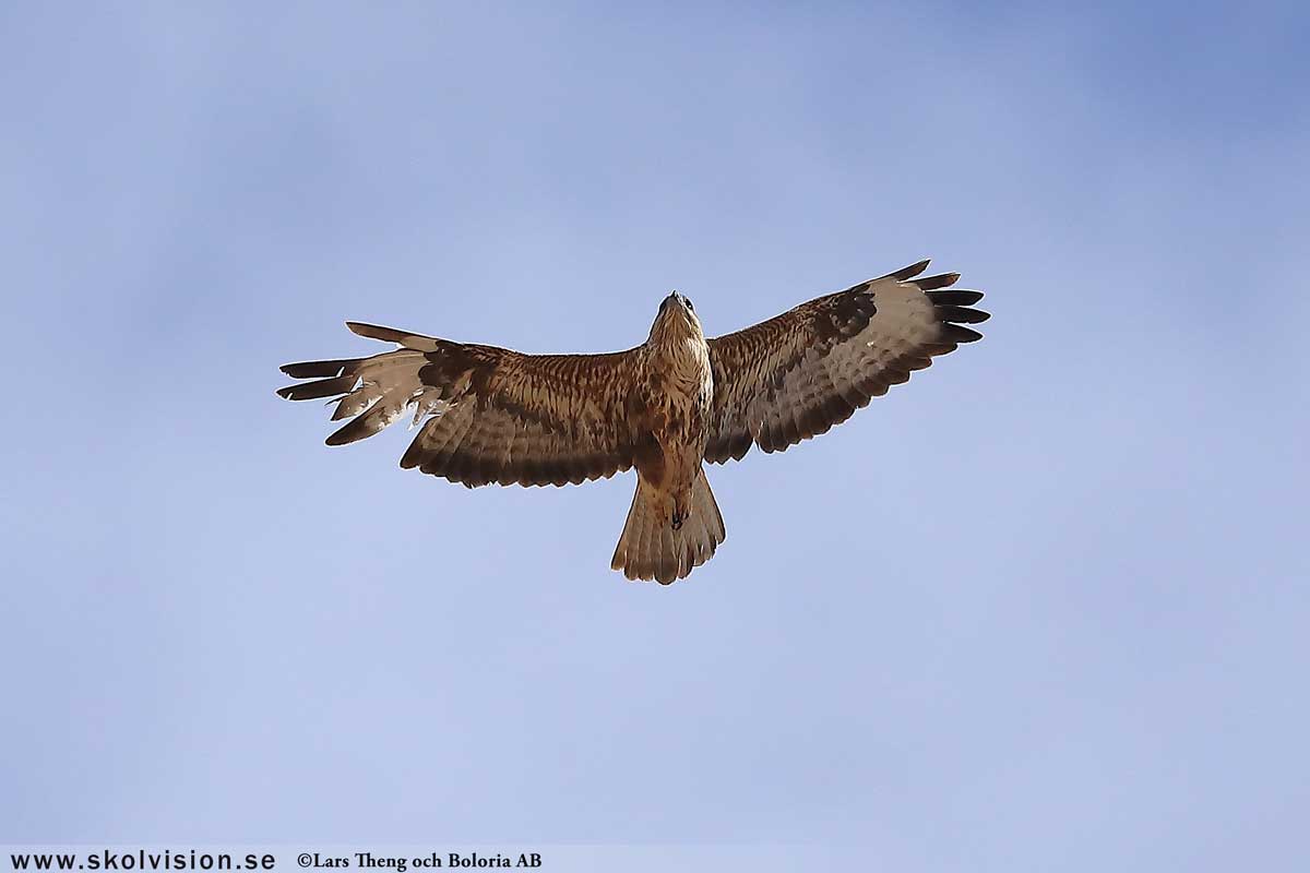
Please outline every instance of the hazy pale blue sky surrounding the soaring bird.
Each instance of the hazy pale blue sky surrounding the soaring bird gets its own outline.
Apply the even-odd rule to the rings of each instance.
[[[1310,13],[5,4],[0,842],[1310,859]],[[355,318],[723,334],[924,257],[986,339],[713,467],[328,449]],[[723,869],[723,868],[718,868]],[[795,868],[793,868],[795,869]]]

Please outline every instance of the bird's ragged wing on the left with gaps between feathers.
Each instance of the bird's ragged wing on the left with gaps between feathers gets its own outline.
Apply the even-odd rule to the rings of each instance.
[[[337,398],[333,420],[351,419],[328,445],[372,436],[413,408],[415,423],[427,420],[401,466],[470,488],[576,484],[633,466],[624,390],[633,351],[523,355],[375,325],[347,327],[401,348],[282,368],[287,376],[316,381],[278,394],[290,401]]]

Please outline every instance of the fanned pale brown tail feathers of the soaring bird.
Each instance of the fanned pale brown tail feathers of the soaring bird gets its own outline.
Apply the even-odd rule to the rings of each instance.
[[[627,522],[609,565],[627,579],[658,580],[662,585],[686,579],[714,555],[727,535],[705,470],[692,486],[692,514],[679,530],[673,530],[672,514],[672,499],[638,476]]]

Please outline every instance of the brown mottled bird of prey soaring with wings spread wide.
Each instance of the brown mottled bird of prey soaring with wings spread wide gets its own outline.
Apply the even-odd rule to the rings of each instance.
[[[610,567],[630,580],[685,579],[723,542],[703,462],[751,446],[782,452],[849,419],[870,398],[962,343],[986,321],[959,274],[927,260],[706,339],[673,292],[645,343],[607,355],[524,355],[346,322],[396,343],[372,357],[287,364],[290,401],[335,398],[328,437],[343,445],[406,411],[423,421],[402,467],[458,482],[563,486],[637,467],[637,493]]]

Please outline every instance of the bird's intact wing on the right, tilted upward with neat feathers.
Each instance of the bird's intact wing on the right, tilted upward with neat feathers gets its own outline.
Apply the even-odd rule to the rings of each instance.
[[[705,459],[740,459],[752,445],[782,452],[827,433],[937,355],[982,335],[976,291],[959,274],[916,279],[922,260],[819,297],[755,327],[709,340],[714,411]]]

